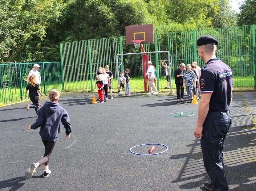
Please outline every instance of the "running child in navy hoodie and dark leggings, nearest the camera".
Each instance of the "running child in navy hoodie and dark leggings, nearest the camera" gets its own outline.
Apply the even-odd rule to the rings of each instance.
[[[45,146],[45,153],[43,158],[37,163],[33,162],[28,171],[25,174],[25,178],[29,179],[33,175],[35,169],[41,165],[44,166],[43,177],[48,177],[51,174],[49,170],[49,159],[55,147],[56,141],[59,139],[60,123],[64,125],[66,129],[66,138],[70,138],[71,125],[68,113],[58,103],[60,93],[58,90],[51,90],[49,93],[49,99],[43,107],[39,109],[38,118],[36,122],[29,125],[28,129],[40,128],[40,136]]]

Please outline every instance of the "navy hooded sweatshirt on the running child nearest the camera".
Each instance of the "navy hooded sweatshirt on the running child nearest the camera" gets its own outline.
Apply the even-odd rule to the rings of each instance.
[[[38,118],[31,125],[31,129],[40,129],[40,136],[44,140],[56,141],[59,139],[60,123],[64,125],[66,134],[71,133],[71,125],[68,113],[58,102],[47,101],[39,109]]]

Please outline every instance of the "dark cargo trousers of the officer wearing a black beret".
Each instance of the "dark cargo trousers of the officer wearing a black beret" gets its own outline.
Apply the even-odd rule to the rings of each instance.
[[[230,113],[218,111],[209,111],[203,124],[201,148],[204,166],[215,191],[229,190],[223,163],[223,145],[230,125]]]

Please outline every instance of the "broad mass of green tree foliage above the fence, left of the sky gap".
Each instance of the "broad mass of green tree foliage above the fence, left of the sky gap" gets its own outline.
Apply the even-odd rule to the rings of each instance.
[[[248,21],[256,15],[242,10]],[[163,33],[235,25],[234,18],[229,0],[0,0],[0,62],[59,61],[60,42],[124,36],[127,25],[153,23]]]

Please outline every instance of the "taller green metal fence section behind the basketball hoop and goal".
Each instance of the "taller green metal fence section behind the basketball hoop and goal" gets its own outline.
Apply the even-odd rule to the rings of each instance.
[[[185,32],[155,34],[154,44],[144,44],[146,52],[168,50],[173,56],[172,77],[180,63],[189,64],[197,61],[200,67],[205,65],[197,54],[196,40],[202,35],[212,35],[219,41],[217,57],[221,58],[234,71],[235,87],[255,87],[255,25],[227,27],[220,29],[205,29]],[[130,68],[131,77],[142,78],[141,55],[122,57],[121,68],[116,69],[116,54],[140,52],[131,45],[125,44],[125,37],[84,40],[61,43],[61,58],[64,68],[65,90],[94,90],[95,75],[99,66],[110,66],[116,72]],[[165,54],[150,54],[158,73],[158,87],[164,88],[165,70],[161,59],[167,59]],[[121,62],[120,60],[120,62]],[[117,80],[113,80],[117,86]],[[141,81],[141,85],[143,82]],[[133,87],[143,89],[143,86]]]

